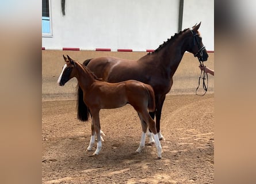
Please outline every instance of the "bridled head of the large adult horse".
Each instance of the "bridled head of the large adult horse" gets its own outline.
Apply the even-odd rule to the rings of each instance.
[[[193,53],[194,56],[200,60],[200,62],[205,62],[208,59],[208,53],[204,47],[204,44],[202,44],[202,37],[198,32],[200,25],[201,22],[198,25],[194,25],[192,29],[188,30],[188,32],[190,32],[189,36],[191,36],[191,39],[189,39],[190,41],[188,51]]]

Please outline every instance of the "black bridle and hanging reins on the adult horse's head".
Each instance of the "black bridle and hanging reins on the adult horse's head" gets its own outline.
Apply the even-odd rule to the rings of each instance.
[[[194,54],[194,57],[197,57],[197,58],[198,58],[198,61],[199,61],[199,63],[200,63],[200,66],[203,67],[203,66],[204,66],[204,62],[203,62],[203,60],[202,60],[202,51],[204,51],[205,46],[202,45],[202,47],[200,48],[200,45],[199,45],[198,40],[197,40],[197,35],[198,35],[198,34],[196,34],[196,32],[193,32],[192,29],[190,29],[190,31],[191,31],[192,34],[193,34],[193,46],[196,45],[196,43],[197,43],[197,46],[198,46],[198,51],[197,51],[196,54]],[[198,88],[199,88],[199,86],[200,86],[200,80],[201,80],[201,78],[202,78],[202,87],[203,87],[203,89],[204,89],[204,94],[201,94],[201,95],[200,95],[200,94],[197,94],[197,90],[198,90]],[[207,79],[207,85],[205,85],[205,79]],[[200,74],[199,79],[198,79],[198,86],[197,86],[197,88],[196,88],[196,95],[199,95],[199,96],[205,95],[205,93],[207,93],[207,89],[208,89],[208,74],[207,74],[207,72],[201,70],[201,74]]]

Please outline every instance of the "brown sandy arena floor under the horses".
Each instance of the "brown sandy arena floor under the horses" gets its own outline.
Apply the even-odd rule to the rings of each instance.
[[[162,159],[156,159],[151,145],[135,154],[142,128],[130,105],[101,110],[105,141],[100,155],[91,157],[93,152],[86,151],[90,121],[76,119],[76,101],[43,101],[42,181],[213,183],[213,99],[211,93],[167,95],[161,120],[166,138],[161,141]]]

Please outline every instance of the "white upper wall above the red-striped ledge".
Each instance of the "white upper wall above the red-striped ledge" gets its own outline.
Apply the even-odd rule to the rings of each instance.
[[[213,11],[213,3],[209,0],[193,2],[200,12],[204,11],[201,16],[207,17],[208,12]],[[213,19],[206,22],[207,18],[198,20],[197,16],[189,16],[190,4],[190,0],[184,2],[183,28],[202,20],[200,30],[204,44],[208,50],[213,50],[213,36],[208,36],[209,30],[213,33]],[[42,47],[45,49],[78,47],[146,51],[158,48],[178,32],[179,0],[66,0],[66,16],[62,16],[60,1],[52,0],[51,10],[53,36],[43,37]]]

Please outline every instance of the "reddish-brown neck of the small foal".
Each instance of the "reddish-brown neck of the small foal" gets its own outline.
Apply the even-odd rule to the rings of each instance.
[[[90,86],[95,82],[95,79],[91,75],[90,71],[83,68],[80,64],[78,64],[77,70],[78,85],[83,90],[90,89]]]

